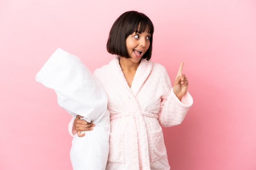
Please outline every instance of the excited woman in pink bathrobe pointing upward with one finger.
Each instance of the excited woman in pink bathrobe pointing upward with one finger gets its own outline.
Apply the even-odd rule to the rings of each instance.
[[[169,170],[160,124],[180,124],[193,104],[183,63],[172,87],[164,66],[150,61],[153,33],[153,23],[143,13],[123,13],[114,22],[107,43],[108,52],[117,57],[94,71],[108,95],[107,170]],[[97,126],[80,118],[70,122],[70,133],[83,136],[80,131]]]

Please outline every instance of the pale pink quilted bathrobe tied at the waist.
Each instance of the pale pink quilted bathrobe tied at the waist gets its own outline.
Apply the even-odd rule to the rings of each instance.
[[[184,120],[193,104],[189,92],[180,101],[164,66],[146,59],[141,59],[131,87],[118,57],[95,70],[94,76],[108,95],[111,132],[106,170],[169,170],[160,124],[170,127]]]

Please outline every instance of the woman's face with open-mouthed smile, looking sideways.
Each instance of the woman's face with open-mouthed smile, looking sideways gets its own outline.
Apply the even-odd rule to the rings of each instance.
[[[126,38],[126,48],[130,60],[134,63],[140,61],[150,45],[150,33],[132,33]]]

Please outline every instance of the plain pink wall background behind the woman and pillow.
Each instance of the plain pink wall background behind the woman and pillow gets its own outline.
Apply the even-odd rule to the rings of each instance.
[[[173,81],[181,61],[194,99],[164,129],[173,170],[256,169],[255,0],[0,0],[0,169],[70,170],[71,116],[35,81],[60,47],[93,71],[121,13],[155,25],[152,60]]]

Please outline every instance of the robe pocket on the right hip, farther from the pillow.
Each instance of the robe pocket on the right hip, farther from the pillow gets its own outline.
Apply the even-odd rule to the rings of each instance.
[[[151,135],[151,146],[149,147],[150,152],[150,160],[157,161],[158,159],[161,159],[163,157],[166,157],[166,147],[164,145],[164,135],[162,128],[158,131],[155,131]]]

